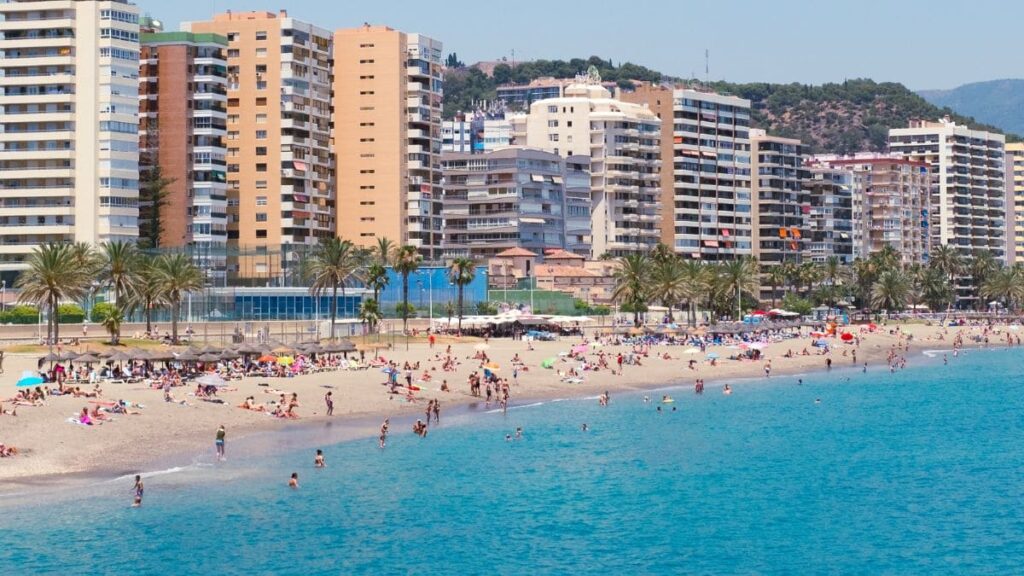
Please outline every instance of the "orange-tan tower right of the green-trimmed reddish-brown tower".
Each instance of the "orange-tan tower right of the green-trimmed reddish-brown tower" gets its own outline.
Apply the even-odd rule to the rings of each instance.
[[[286,278],[335,231],[331,33],[284,10],[184,29],[227,38],[227,238],[239,250],[229,274]]]

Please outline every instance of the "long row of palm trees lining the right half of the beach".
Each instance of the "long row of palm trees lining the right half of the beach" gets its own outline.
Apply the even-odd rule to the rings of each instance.
[[[926,304],[939,311],[954,306],[958,295],[973,297],[979,308],[988,300],[1014,311],[1024,305],[1024,266],[1002,265],[987,251],[976,251],[968,259],[946,245],[934,249],[927,264],[904,262],[889,246],[852,264],[837,256],[823,262],[760,265],[742,257],[711,263],[683,258],[660,244],[648,253],[621,257],[617,263],[612,299],[623,310],[642,312],[659,303],[671,317],[673,308],[685,307],[691,323],[697,306],[739,318],[744,300],[758,304],[762,285],[771,287],[772,307],[780,289],[785,301],[808,310],[856,304],[902,311]]]

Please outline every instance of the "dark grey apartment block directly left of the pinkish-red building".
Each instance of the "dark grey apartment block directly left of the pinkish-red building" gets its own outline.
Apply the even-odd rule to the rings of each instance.
[[[863,243],[856,174],[827,166],[811,166],[808,172],[804,186],[810,206],[810,243],[805,253],[812,262],[836,256],[841,263],[852,264],[861,256]]]

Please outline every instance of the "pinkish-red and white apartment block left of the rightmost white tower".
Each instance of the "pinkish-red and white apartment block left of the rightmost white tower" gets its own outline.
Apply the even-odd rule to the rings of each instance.
[[[863,256],[889,246],[904,264],[928,259],[932,186],[928,164],[880,154],[820,155],[814,157],[814,162],[854,172],[858,180],[856,190],[862,199],[860,251]]]

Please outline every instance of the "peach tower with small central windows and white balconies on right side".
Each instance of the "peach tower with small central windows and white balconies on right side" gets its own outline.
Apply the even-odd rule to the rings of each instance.
[[[383,26],[334,34],[338,235],[441,252],[441,43]]]

